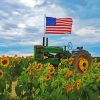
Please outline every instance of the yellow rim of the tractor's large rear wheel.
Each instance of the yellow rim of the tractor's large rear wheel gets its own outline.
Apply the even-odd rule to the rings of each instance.
[[[83,57],[79,58],[79,68],[83,73],[87,72],[88,66],[89,66],[89,63],[87,59]]]

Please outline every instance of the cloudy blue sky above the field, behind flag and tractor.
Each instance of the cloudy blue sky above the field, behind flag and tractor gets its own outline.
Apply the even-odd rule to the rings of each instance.
[[[72,34],[45,35],[49,45],[73,43],[100,56],[100,0],[1,0],[0,55],[33,55],[42,44],[44,15],[73,18]]]

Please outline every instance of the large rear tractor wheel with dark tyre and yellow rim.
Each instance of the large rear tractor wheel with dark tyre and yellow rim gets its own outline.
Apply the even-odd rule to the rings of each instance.
[[[90,54],[80,54],[74,58],[73,67],[78,73],[86,73],[91,66],[92,57]]]

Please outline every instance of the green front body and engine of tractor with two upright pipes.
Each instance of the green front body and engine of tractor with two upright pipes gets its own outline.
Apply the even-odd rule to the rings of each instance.
[[[66,47],[48,46],[48,38],[43,37],[43,45],[34,46],[34,58],[41,62],[50,62],[51,64],[57,66],[60,59],[70,57],[71,53],[66,51]]]

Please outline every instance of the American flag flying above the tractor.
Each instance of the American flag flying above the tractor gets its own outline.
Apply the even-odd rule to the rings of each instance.
[[[72,18],[46,17],[45,34],[66,34],[72,31]]]

